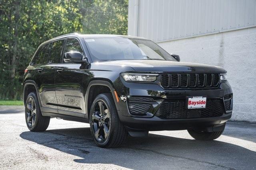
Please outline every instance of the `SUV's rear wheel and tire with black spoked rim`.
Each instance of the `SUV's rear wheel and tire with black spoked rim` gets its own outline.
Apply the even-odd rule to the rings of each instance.
[[[42,116],[35,92],[31,92],[27,96],[25,103],[25,119],[28,129],[33,132],[45,131],[50,123],[50,117]]]

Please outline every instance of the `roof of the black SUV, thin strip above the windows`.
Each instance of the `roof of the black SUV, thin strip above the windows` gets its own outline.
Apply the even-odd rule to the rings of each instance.
[[[130,35],[70,33],[70,34],[60,35],[58,37],[54,37],[52,39],[49,39],[48,41],[45,41],[41,45],[49,43],[51,41],[55,41],[57,39],[68,38],[68,37],[80,37],[80,38],[85,38],[85,39],[92,39],[92,38],[132,38],[132,39],[145,39],[145,40],[148,40],[148,39],[143,38],[143,37],[136,37],[136,36],[130,36]]]

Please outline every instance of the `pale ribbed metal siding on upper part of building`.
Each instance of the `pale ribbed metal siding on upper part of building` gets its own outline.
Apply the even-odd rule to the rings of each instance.
[[[129,0],[128,35],[167,41],[256,25],[256,0]]]

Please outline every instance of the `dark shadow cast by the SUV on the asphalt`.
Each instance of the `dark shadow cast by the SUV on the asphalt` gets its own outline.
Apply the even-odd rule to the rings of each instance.
[[[244,168],[256,167],[256,152],[221,141],[196,141],[149,134],[147,138],[128,137],[120,148],[103,149],[94,145],[90,128],[26,131],[22,139],[33,141],[81,159],[78,163],[115,164],[125,168]],[[252,159],[249,159],[252,158]],[[145,166],[146,165],[146,166]]]

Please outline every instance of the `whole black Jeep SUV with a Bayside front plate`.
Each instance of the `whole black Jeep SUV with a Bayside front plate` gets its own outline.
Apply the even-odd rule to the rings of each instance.
[[[179,61],[141,37],[50,39],[24,74],[28,129],[45,131],[50,117],[90,123],[99,147],[161,130],[187,129],[194,139],[214,140],[232,114],[226,70]]]

